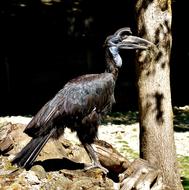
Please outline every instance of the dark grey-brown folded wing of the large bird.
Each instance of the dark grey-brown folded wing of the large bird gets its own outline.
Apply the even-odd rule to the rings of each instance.
[[[38,111],[24,132],[38,136],[48,133],[65,117],[83,118],[94,108],[103,111],[112,101],[112,86],[114,81],[109,73],[83,75],[71,80]]]

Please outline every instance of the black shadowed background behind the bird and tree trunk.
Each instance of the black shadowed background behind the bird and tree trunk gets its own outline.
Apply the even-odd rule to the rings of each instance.
[[[185,7],[172,1],[173,106],[189,104]],[[1,0],[0,115],[33,115],[68,80],[104,72],[104,40],[125,26],[135,34],[135,24],[132,0]],[[137,110],[135,51],[120,54],[113,111]]]

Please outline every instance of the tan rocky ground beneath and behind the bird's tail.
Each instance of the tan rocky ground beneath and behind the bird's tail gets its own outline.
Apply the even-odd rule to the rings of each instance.
[[[64,136],[59,140],[49,140],[28,171],[11,166],[10,160],[30,141],[30,137],[23,133],[25,127],[26,124],[11,122],[1,127],[1,142],[4,142],[1,147],[7,147],[9,156],[0,157],[6,163],[0,167],[0,178],[3,178],[0,189],[112,189],[113,181],[104,176],[100,169],[83,170],[84,163],[91,160],[75,134],[69,130],[69,140]],[[8,142],[14,145],[13,149],[8,150]]]

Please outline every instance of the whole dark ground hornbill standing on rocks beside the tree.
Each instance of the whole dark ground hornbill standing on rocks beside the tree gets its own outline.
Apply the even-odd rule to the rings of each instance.
[[[12,164],[29,168],[50,137],[63,134],[68,127],[77,136],[92,160],[85,169],[99,167],[105,173],[92,147],[102,116],[111,111],[118,70],[122,65],[119,49],[147,49],[152,43],[132,36],[130,28],[121,28],[104,43],[106,70],[70,80],[48,101],[26,126],[31,141],[15,156]],[[55,135],[56,134],[56,135]],[[57,135],[58,134],[58,135]]]

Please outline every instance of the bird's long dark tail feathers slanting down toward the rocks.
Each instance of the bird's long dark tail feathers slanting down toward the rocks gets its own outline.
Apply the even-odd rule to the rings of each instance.
[[[11,163],[22,168],[29,168],[54,132],[55,128],[45,136],[31,139],[30,142],[15,156]]]

